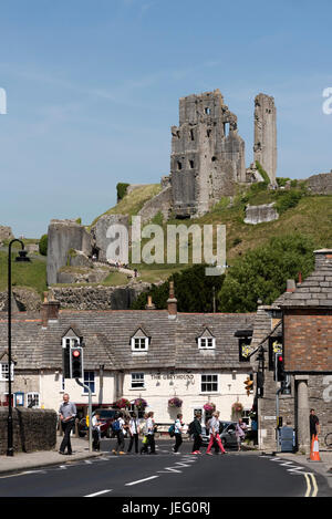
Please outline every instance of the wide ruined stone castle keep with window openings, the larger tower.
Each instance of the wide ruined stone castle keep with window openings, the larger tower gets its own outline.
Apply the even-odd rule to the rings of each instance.
[[[174,215],[201,216],[239,183],[246,183],[245,142],[220,91],[181,97],[179,126],[172,126]]]

